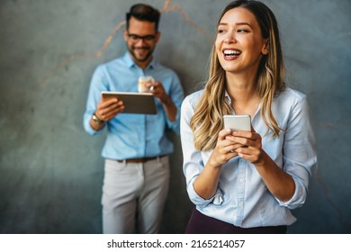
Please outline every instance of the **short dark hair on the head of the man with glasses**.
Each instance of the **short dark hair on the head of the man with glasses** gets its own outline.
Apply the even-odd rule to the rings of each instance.
[[[158,30],[158,22],[160,13],[157,9],[148,4],[134,4],[130,7],[130,12],[127,13],[127,30],[130,27],[130,17],[134,17],[139,21],[148,21],[155,23],[155,30]]]

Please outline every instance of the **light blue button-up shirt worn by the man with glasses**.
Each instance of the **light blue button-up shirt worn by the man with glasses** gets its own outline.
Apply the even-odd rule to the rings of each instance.
[[[157,114],[120,113],[105,123],[108,134],[102,156],[110,159],[157,157],[173,152],[172,142],[166,138],[166,129],[179,134],[180,106],[184,99],[183,88],[175,72],[153,59],[144,70],[130,58],[128,52],[96,68],[91,80],[84,114],[84,128],[91,134],[100,134],[90,125],[90,119],[101,99],[102,91],[138,92],[139,76],[153,76],[162,83],[166,94],[178,111],[175,121],[169,121],[162,103],[155,98]]]

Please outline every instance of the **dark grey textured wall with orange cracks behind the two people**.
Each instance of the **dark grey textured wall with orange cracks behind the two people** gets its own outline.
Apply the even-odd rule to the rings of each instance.
[[[94,68],[121,56],[137,1],[0,2],[0,233],[100,233],[104,136],[82,117]],[[186,94],[199,89],[229,1],[145,1],[163,12],[157,58]],[[265,1],[280,23],[288,85],[308,95],[319,168],[289,233],[351,232],[351,1]],[[192,204],[180,140],[163,233],[183,233]]]

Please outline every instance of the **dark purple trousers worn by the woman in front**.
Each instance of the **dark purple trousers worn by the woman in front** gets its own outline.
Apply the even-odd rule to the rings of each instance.
[[[285,234],[286,229],[286,226],[243,229],[230,223],[208,217],[194,209],[185,234]]]

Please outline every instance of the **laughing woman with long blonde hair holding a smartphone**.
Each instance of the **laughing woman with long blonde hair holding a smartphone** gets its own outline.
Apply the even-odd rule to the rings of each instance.
[[[248,114],[251,131],[223,127]],[[306,95],[284,85],[275,15],[234,1],[220,15],[203,90],[184,99],[181,140],[195,209],[186,233],[286,233],[317,161]]]

